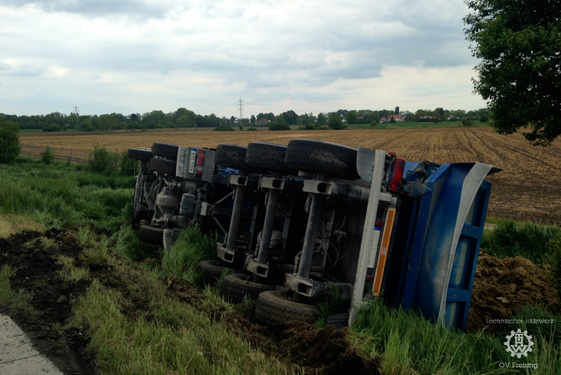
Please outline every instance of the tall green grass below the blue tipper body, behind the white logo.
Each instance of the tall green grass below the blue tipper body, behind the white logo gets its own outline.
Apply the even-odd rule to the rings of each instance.
[[[525,314],[531,313],[538,315],[536,318],[546,314],[542,310],[525,311]],[[525,315],[525,318],[534,316]],[[528,329],[529,334],[534,332],[534,345],[539,350],[515,362],[538,363],[540,369],[552,371],[550,373],[560,369],[557,324],[544,325],[541,329],[535,325],[517,325],[516,328]],[[553,333],[548,333],[547,329]],[[381,301],[360,311],[353,334],[360,337],[367,353],[381,355],[384,374],[504,374],[508,371],[499,364],[513,362],[503,344],[503,335],[454,332],[428,322],[421,315],[388,308]]]

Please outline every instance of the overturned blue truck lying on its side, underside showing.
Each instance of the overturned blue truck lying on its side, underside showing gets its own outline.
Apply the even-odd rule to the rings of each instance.
[[[313,139],[198,149],[155,143],[139,160],[139,235],[168,249],[197,224],[217,236],[201,267],[264,323],[313,322],[334,295],[351,325],[363,304],[465,329],[491,184],[482,163],[405,161]]]

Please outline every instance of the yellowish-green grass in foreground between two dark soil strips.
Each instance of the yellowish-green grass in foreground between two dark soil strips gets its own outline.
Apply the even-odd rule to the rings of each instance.
[[[121,274],[130,270],[121,268]],[[255,350],[228,325],[190,304],[168,296],[151,273],[123,278],[139,285],[147,301],[135,317],[127,315],[131,296],[95,280],[76,303],[74,324],[91,335],[88,346],[106,374],[289,374],[291,369]],[[202,300],[206,300],[201,295]],[[208,301],[201,301],[201,304]],[[209,306],[208,308],[212,308]],[[224,310],[222,306],[214,306]]]

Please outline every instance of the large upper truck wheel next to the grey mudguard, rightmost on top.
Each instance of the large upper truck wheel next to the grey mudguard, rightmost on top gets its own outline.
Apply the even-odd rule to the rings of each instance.
[[[293,139],[288,142],[285,161],[297,170],[323,172],[342,179],[358,179],[356,155],[356,149],[342,144]]]

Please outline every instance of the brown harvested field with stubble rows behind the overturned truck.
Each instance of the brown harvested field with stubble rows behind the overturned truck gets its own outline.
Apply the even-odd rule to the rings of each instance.
[[[320,139],[348,146],[394,151],[408,161],[435,163],[479,161],[504,171],[488,177],[493,183],[489,217],[561,225],[561,140],[548,148],[532,146],[520,134],[499,135],[492,128],[432,128],[404,130],[316,130],[213,132],[167,130],[109,134],[22,133],[24,146],[51,146],[87,154],[96,144],[109,151],[167,142],[215,147],[263,141],[288,144],[291,139]],[[67,159],[65,159],[67,160]]]

